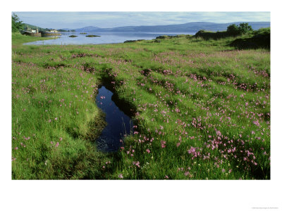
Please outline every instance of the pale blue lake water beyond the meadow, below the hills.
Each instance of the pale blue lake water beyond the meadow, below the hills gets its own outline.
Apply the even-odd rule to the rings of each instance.
[[[101,37],[85,37],[86,35],[99,35]],[[95,32],[80,34],[79,32],[62,32],[61,37],[57,39],[32,41],[25,43],[26,45],[80,45],[80,44],[114,44],[121,43],[125,40],[137,39],[155,39],[161,35],[177,35],[177,34],[195,34],[194,32]],[[78,37],[69,37],[76,35]]]

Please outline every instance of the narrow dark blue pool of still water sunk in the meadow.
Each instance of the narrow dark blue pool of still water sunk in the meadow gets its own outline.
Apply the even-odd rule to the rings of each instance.
[[[96,103],[106,113],[106,127],[96,140],[97,148],[103,152],[115,152],[122,146],[121,139],[133,131],[133,122],[111,100],[113,93],[101,87],[96,97]]]

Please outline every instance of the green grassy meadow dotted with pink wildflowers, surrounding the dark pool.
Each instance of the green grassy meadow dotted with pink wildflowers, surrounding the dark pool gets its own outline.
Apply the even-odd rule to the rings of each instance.
[[[238,50],[236,37],[22,46],[19,36],[13,179],[270,179],[269,49]],[[95,148],[99,84],[134,113],[117,153]]]

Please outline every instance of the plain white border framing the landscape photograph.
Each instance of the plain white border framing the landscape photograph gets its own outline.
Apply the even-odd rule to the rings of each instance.
[[[281,210],[281,6],[278,3],[51,0],[6,1],[2,6],[1,27],[8,32],[11,11],[271,11],[271,181],[11,181],[11,34],[10,37],[1,34],[4,43],[1,62],[5,63],[1,68],[1,97],[4,96],[1,210],[254,210],[252,207]]]

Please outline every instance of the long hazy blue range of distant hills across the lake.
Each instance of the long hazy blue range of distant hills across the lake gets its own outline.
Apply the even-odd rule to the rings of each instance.
[[[76,32],[198,32],[200,30],[207,31],[223,31],[228,25],[239,25],[243,22],[235,23],[209,23],[209,22],[192,22],[176,25],[154,25],[154,26],[125,26],[114,28],[99,28],[99,27],[83,27],[75,29]],[[252,26],[253,30],[270,27],[270,22],[247,22]]]

